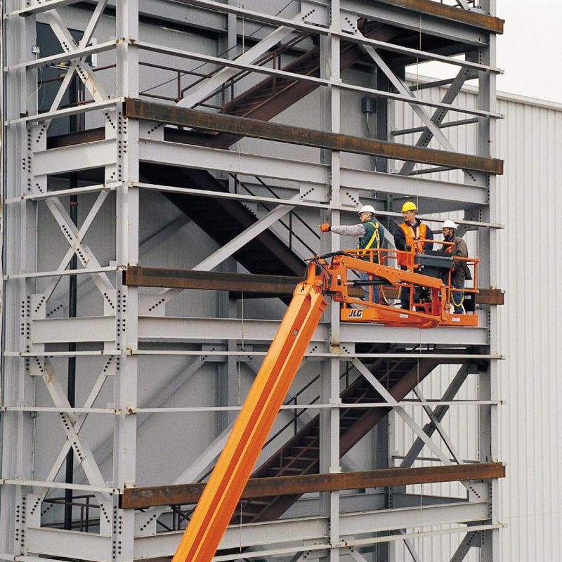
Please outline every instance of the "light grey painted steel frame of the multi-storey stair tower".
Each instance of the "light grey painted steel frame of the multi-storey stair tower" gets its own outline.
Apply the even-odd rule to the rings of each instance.
[[[348,92],[360,93],[379,99],[381,115],[377,119],[377,138],[381,141],[420,133],[411,143],[412,148],[425,149],[432,139],[436,139],[437,148],[454,153],[457,148],[449,140],[447,131],[452,126],[476,124],[478,146],[475,155],[491,160],[495,156],[495,122],[501,117],[495,107],[495,75],[499,72],[495,66],[495,41],[499,20],[493,17],[495,0],[483,0],[480,8],[475,8],[467,0],[456,0],[452,3],[457,5],[452,12],[451,6],[438,8],[439,3],[432,0],[309,0],[293,3],[295,6],[299,4],[298,7],[292,6],[296,11],[293,18],[253,11],[232,1],[220,4],[212,0],[180,0],[181,7],[178,2],[158,1],[162,8],[160,15],[169,9],[167,17],[180,20],[181,11],[188,10],[195,22],[194,29],[200,25],[208,32],[224,34],[230,50],[240,39],[244,42],[255,35],[254,44],[240,57],[233,58],[143,41],[139,18],[150,13],[143,0],[89,2],[92,9],[88,18],[84,19],[86,12],[80,12],[84,19],[83,35],[76,41],[63,17],[63,11],[72,11],[72,4],[76,2],[6,0],[2,8],[5,219],[0,558],[24,562],[37,560],[37,557],[115,562],[162,558],[173,554],[180,537],[179,531],[157,532],[157,521],[169,521],[170,510],[152,507],[141,512],[122,509],[119,505],[119,493],[136,483],[138,429],[160,412],[176,415],[218,412],[231,422],[238,409],[233,401],[237,361],[244,362],[256,372],[268,341],[275,333],[277,321],[237,318],[235,306],[230,306],[228,314],[224,315],[228,318],[174,316],[166,314],[165,307],[174,303],[183,289],[163,289],[159,294],[145,294],[139,287],[124,283],[123,271],[138,265],[145,244],[158,244],[187,221],[171,221],[162,226],[152,240],[141,240],[140,192],[179,190],[184,195],[202,195],[201,190],[192,186],[174,188],[143,181],[139,164],[166,164],[177,169],[211,170],[215,174],[234,171],[239,176],[266,178],[272,185],[282,185],[285,194],[289,193],[282,200],[270,197],[266,190],[259,190],[256,195],[244,195],[236,190],[217,195],[249,204],[265,202],[275,207],[193,268],[200,271],[210,271],[224,263],[257,235],[275,229],[278,221],[289,212],[317,209],[322,221],[339,223],[345,213],[355,209],[361,198],[362,201],[372,201],[380,215],[391,221],[399,216],[400,201],[415,193],[428,214],[465,211],[464,219],[459,223],[463,230],[478,231],[481,284],[497,287],[495,258],[497,236],[502,226],[497,223],[495,176],[483,171],[464,169],[459,181],[452,183],[440,181],[436,176],[418,178],[417,173],[427,170],[416,169],[417,163],[412,160],[400,162],[391,156],[377,156],[376,170],[353,169],[342,164],[341,150],[321,145],[318,145],[318,162],[305,162],[195,143],[170,142],[166,140],[163,124],[155,126],[142,118],[126,117],[124,113],[124,100],[142,99],[139,92],[143,76],[139,62],[143,53],[211,62],[221,67],[178,102],[178,107],[197,107],[209,93],[221,88],[240,70],[259,77],[290,77],[314,83],[320,89],[322,130],[327,133],[341,134],[342,96]],[[116,39],[92,44],[108,7],[115,10],[116,27],[112,35]],[[60,42],[60,54],[41,58],[40,54],[34,53],[32,47],[37,44],[38,18],[48,23]],[[464,45],[465,59],[453,58],[457,52],[443,53],[440,48],[424,51],[393,41],[370,39],[358,30],[360,18],[385,22],[400,30],[413,30],[420,37],[428,34],[443,41],[458,41]],[[318,38],[319,77],[306,77],[256,64],[263,53],[295,32],[308,32]],[[343,41],[362,46],[368,55],[362,64],[376,69],[379,85],[358,86],[344,79],[339,70]],[[388,63],[389,52],[396,56],[394,66]],[[107,91],[107,84],[103,84],[86,60],[96,53],[111,55],[114,60],[114,91]],[[448,63],[455,70],[440,102],[417,96],[419,90],[410,87],[400,74],[400,68],[412,64],[416,58]],[[58,93],[48,111],[39,112],[35,95],[38,69],[61,63],[65,64],[65,75]],[[61,107],[75,76],[84,84],[89,100],[77,107]],[[462,107],[455,100],[466,80],[474,77],[478,77],[478,106]],[[391,84],[393,89],[380,84]],[[436,87],[443,86],[436,84]],[[411,107],[421,126],[393,131],[393,105],[397,103]],[[466,114],[470,119],[445,123],[443,120],[448,112]],[[49,148],[51,123],[77,114],[91,115],[103,122],[101,138]],[[445,169],[453,167],[445,166]],[[92,169],[103,169],[103,181],[89,181],[84,186],[63,190],[53,181]],[[384,195],[374,197],[373,186]],[[115,259],[108,261],[96,257],[84,240],[114,192]],[[94,197],[93,204],[81,223],[75,226],[63,200],[69,195],[86,193]],[[37,232],[44,220],[39,213],[41,209],[55,221],[64,237],[67,249],[62,258],[55,259],[55,253],[53,256],[39,254]],[[441,219],[431,217],[431,220],[439,222]],[[320,250],[336,251],[341,242],[338,236],[329,235],[322,240]],[[68,266],[74,255],[80,265],[77,270],[70,270]],[[95,296],[96,315],[67,317],[65,300],[56,294],[59,285],[70,275],[77,275],[81,296]],[[462,462],[457,445],[447,435],[442,421],[450,408],[467,403],[476,405],[479,412],[478,450],[481,458],[477,460],[499,461],[497,377],[501,355],[497,349],[497,313],[495,306],[481,308],[480,327],[427,331],[346,325],[340,322],[337,307],[331,308],[315,331],[306,353],[307,361],[322,366],[320,400],[298,406],[320,412],[322,473],[338,473],[342,466],[350,466],[349,461],[341,460],[339,443],[339,411],[342,407],[339,380],[342,365],[347,362],[353,365],[357,376],[367,378],[386,400],[384,405],[371,406],[389,407],[414,432],[416,437],[410,450],[402,456],[401,467],[412,466],[417,460],[426,458],[421,457],[424,447],[431,451],[433,459],[443,464]],[[242,349],[241,329],[244,334],[242,343],[245,344]],[[208,344],[209,341],[217,343]],[[396,400],[365,367],[365,360],[384,354],[356,351],[360,344],[374,341],[395,344],[398,351],[389,354],[393,357],[400,353],[408,355],[415,346],[428,346],[428,349],[429,346],[441,346],[445,350],[461,348],[454,358],[462,366],[439,400],[426,400],[419,386],[414,389],[417,401]],[[69,342],[78,344],[79,351],[61,351],[60,346]],[[70,406],[63,390],[65,373],[57,367],[58,358],[71,355],[98,358],[99,363],[98,370],[89,363],[90,367],[81,373],[80,384],[84,384],[86,399],[75,407]],[[150,405],[141,403],[138,399],[139,362],[143,356],[150,355],[184,357],[188,365],[182,369],[182,382],[192,377],[202,365],[215,362],[228,380],[223,388],[222,403],[216,407],[163,407],[181,385],[174,379],[162,383]],[[423,352],[419,355],[420,358],[426,356],[429,355]],[[449,357],[453,360],[452,355]],[[455,400],[469,374],[479,379],[479,396],[476,400]],[[37,401],[37,386],[43,384],[51,403]],[[104,386],[112,386],[112,403],[105,408],[94,407]],[[419,407],[426,412],[429,419],[426,425],[414,420],[407,410],[410,407]],[[296,405],[287,404],[282,410],[296,410]],[[39,453],[34,431],[37,414],[41,412],[57,414],[63,445],[48,475],[37,480],[33,467]],[[81,429],[86,419],[95,416],[110,417],[112,431],[105,433],[102,444],[92,450]],[[308,419],[310,414],[303,414],[299,424]],[[207,473],[225,442],[229,426],[223,423],[222,431],[216,432],[216,438],[197,462],[181,467],[177,483],[195,482]],[[379,454],[377,466],[373,468],[387,468],[393,460],[387,429],[385,426],[375,430]],[[436,433],[441,445],[432,439]],[[65,483],[61,480],[60,468],[71,450],[83,475],[80,479],[77,473],[76,482]],[[100,464],[107,459],[112,463],[110,478],[100,470]],[[497,481],[464,482],[463,485],[466,500],[436,499],[434,504],[426,504],[423,508],[416,506],[412,499],[414,495],[405,493],[405,490],[387,488],[382,492],[367,493],[356,501],[342,494],[341,490],[321,492],[318,499],[299,502],[300,505],[289,512],[289,518],[229,528],[221,548],[240,548],[240,554],[218,555],[214,559],[298,562],[312,558],[330,562],[369,562],[376,552],[377,559],[393,560],[396,559],[393,545],[403,542],[410,557],[421,561],[424,558],[414,548],[412,539],[425,540],[426,537],[431,540],[431,537],[452,534],[459,535],[459,544],[451,553],[451,561],[462,561],[471,548],[479,549],[483,562],[497,560],[497,533],[502,526],[497,516]],[[53,528],[52,521],[44,518],[48,509],[43,506],[48,494],[67,489],[95,497],[99,513],[96,532]],[[367,506],[374,506],[374,509]],[[423,521],[420,525],[421,511]]]

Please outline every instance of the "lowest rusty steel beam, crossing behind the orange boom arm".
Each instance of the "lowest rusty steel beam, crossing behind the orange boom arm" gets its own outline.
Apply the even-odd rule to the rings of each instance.
[[[505,466],[499,462],[460,464],[451,466],[424,466],[415,469],[385,469],[332,474],[308,474],[306,476],[280,476],[278,478],[251,478],[241,499],[272,497],[377,488],[379,486],[403,486],[464,480],[488,480],[504,478]],[[141,509],[158,505],[195,504],[205,483],[126,488],[120,496],[123,509]]]

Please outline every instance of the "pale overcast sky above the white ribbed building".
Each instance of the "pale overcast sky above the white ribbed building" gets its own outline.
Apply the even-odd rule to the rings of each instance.
[[[497,0],[497,16],[505,20],[497,36],[499,91],[562,103],[562,72],[556,64],[562,41],[562,0]],[[415,74],[416,67],[409,69]],[[419,74],[449,78],[451,65],[426,63]]]

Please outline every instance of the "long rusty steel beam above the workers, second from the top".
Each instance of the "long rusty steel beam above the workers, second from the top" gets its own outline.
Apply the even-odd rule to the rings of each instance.
[[[483,158],[457,152],[434,150],[433,148],[419,148],[341,133],[327,133],[318,131],[318,129],[303,129],[302,127],[270,123],[259,119],[208,113],[138,99],[128,98],[125,100],[124,114],[129,119],[233,133],[279,143],[292,143],[327,150],[396,158],[398,160],[421,162],[422,164],[447,166],[453,169],[482,171],[486,174],[503,174],[504,171],[503,161],[496,158]]]

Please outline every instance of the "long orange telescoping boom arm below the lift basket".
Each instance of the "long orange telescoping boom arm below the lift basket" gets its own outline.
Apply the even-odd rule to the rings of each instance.
[[[213,558],[326,305],[318,287],[297,285],[172,562]]]

